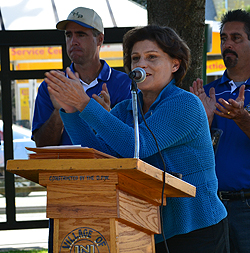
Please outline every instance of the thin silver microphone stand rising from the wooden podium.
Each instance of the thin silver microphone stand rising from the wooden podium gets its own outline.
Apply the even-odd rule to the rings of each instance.
[[[132,95],[132,109],[133,109],[133,118],[134,118],[134,132],[135,132],[135,152],[134,158],[139,158],[139,124],[138,124],[138,108],[137,108],[137,84],[133,78],[131,85],[131,95]]]

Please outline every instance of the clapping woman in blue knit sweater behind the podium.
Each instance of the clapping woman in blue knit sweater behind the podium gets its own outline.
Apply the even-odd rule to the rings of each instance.
[[[217,196],[206,112],[199,98],[180,88],[190,63],[188,46],[171,28],[149,25],[127,32],[123,49],[125,70],[146,72],[145,80],[138,82],[139,158],[162,170],[165,164],[167,171],[182,174],[196,186],[195,198],[169,198],[163,207],[169,251],[227,252],[227,212]],[[134,157],[132,100],[108,112],[86,95],[70,69],[67,73],[71,79],[48,72],[46,82],[62,107],[60,115],[73,144],[118,158]],[[155,241],[156,252],[167,252],[162,235]]]

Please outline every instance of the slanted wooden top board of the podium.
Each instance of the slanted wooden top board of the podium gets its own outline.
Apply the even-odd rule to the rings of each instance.
[[[9,160],[7,171],[39,183],[41,173],[116,172],[155,189],[162,189],[163,171],[137,158],[115,159],[30,159]],[[165,173],[165,193],[171,188],[176,197],[194,197],[196,188]]]

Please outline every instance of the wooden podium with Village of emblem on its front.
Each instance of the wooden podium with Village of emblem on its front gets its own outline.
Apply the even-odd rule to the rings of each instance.
[[[54,252],[155,252],[161,170],[136,158],[10,160],[7,170],[47,187]],[[194,186],[165,178],[164,199],[195,196]]]

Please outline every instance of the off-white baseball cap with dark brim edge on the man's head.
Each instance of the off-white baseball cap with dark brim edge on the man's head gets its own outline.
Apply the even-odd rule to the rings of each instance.
[[[65,30],[66,25],[70,22],[75,22],[81,26],[96,29],[104,34],[104,28],[101,17],[92,9],[78,7],[70,12],[66,20],[59,21],[56,24],[58,30]]]

